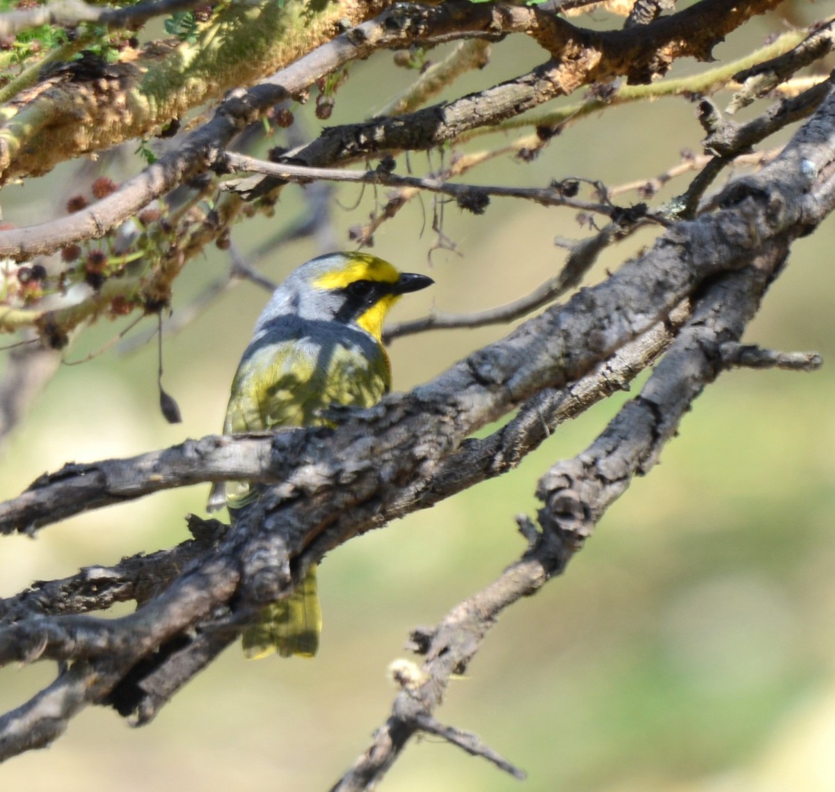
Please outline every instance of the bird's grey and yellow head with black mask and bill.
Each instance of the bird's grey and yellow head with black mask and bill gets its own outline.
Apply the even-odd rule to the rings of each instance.
[[[382,322],[392,305],[403,294],[432,283],[425,275],[397,272],[388,261],[367,253],[329,253],[307,261],[287,277],[259,324],[292,313],[356,325],[380,341]]]

